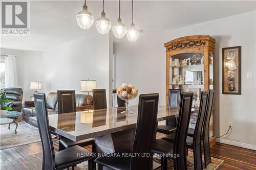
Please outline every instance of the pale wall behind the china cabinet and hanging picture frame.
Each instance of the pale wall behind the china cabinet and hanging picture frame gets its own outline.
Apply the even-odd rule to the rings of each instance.
[[[170,19],[171,21],[172,19]],[[160,93],[160,105],[165,105],[164,43],[188,35],[210,35],[215,44],[216,136],[224,134],[228,122],[233,130],[222,142],[256,150],[256,81],[246,79],[248,71],[256,73],[256,11],[203,22],[158,35],[141,35],[136,42],[114,44],[116,85],[133,83],[139,93]],[[242,95],[222,94],[222,48],[242,46]],[[138,104],[138,98],[132,101]]]

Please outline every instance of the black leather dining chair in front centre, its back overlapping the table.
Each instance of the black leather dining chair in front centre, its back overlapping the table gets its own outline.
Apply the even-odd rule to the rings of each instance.
[[[139,96],[138,119],[132,153],[140,155],[124,157],[120,154],[120,157],[98,157],[95,161],[98,163],[99,169],[102,166],[116,170],[153,169],[152,156],[143,156],[142,154],[151,153],[152,143],[156,138],[158,99],[159,94],[156,93]]]

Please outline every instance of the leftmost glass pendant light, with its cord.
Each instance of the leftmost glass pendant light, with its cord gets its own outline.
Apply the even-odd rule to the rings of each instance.
[[[93,24],[93,19],[93,15],[88,11],[85,0],[82,11],[76,15],[76,21],[81,29],[89,29]]]

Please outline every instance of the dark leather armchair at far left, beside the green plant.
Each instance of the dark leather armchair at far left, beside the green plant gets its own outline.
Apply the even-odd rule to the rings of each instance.
[[[10,87],[10,88],[2,88],[6,92],[6,98],[12,100],[10,103],[10,107],[12,107],[12,111],[22,112],[22,98],[23,98],[23,89]]]

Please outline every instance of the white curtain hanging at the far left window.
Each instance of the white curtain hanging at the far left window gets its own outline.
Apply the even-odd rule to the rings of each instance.
[[[7,55],[5,59],[5,87],[17,87],[17,68],[15,55]]]

